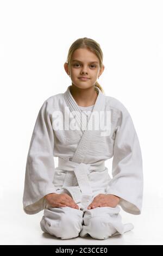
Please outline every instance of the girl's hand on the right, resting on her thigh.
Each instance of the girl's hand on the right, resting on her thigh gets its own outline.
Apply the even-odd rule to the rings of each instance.
[[[87,209],[90,210],[103,206],[116,207],[119,202],[120,197],[117,197],[114,194],[98,194],[98,196],[93,199],[93,202],[87,207]]]

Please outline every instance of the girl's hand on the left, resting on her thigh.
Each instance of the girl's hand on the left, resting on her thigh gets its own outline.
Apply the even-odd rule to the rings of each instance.
[[[45,198],[51,207],[69,206],[74,209],[79,209],[79,206],[66,193],[63,193],[63,194],[51,193],[51,194],[47,194]]]

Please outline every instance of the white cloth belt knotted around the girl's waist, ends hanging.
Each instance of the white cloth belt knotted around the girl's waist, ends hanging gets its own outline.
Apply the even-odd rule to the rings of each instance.
[[[105,170],[105,161],[97,163],[76,163],[58,157],[58,168],[67,171],[62,188],[70,192],[74,202],[81,202],[85,206],[92,198],[92,188],[87,174],[92,171],[103,172]],[[73,185],[75,177],[79,186]]]

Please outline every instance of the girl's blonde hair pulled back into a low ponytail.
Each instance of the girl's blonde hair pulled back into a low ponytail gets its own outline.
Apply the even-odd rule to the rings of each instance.
[[[93,39],[90,38],[79,38],[76,41],[73,42],[73,44],[70,46],[70,49],[68,51],[67,56],[67,64],[68,64],[68,74],[70,74],[70,67],[72,64],[72,55],[73,52],[76,51],[78,48],[87,48],[91,52],[95,53],[96,56],[99,59],[99,66],[100,69],[102,69],[103,66],[103,52],[101,50],[101,46]],[[98,87],[102,93],[104,93],[103,88],[101,85],[96,81],[95,86]]]

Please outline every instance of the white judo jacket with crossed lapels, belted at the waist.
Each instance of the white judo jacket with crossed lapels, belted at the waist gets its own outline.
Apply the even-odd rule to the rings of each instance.
[[[89,119],[70,86],[49,97],[37,115],[26,163],[23,209],[46,208],[46,194],[68,193],[87,205],[99,193],[120,197],[130,214],[142,210],[143,171],[139,139],[126,107],[98,87]],[[55,167],[54,157],[58,157]],[[113,158],[112,158],[113,157]],[[112,177],[105,161],[112,158]]]

